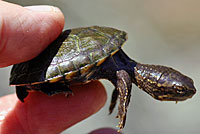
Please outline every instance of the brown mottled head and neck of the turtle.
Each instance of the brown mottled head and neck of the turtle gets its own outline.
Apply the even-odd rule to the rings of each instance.
[[[196,93],[191,78],[165,66],[138,64],[135,78],[138,87],[161,101],[183,101]]]

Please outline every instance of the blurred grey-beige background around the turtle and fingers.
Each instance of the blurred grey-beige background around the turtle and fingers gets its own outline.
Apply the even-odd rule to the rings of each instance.
[[[59,7],[65,29],[99,25],[128,33],[123,50],[141,63],[171,66],[190,76],[197,89],[187,101],[160,102],[133,86],[124,134],[200,133],[200,1],[199,0],[7,0],[22,6],[48,4]],[[13,93],[8,86],[11,67],[0,69],[0,96]],[[84,134],[118,123],[117,110],[108,116],[113,86],[104,83],[108,101],[104,108],[63,134]]]

